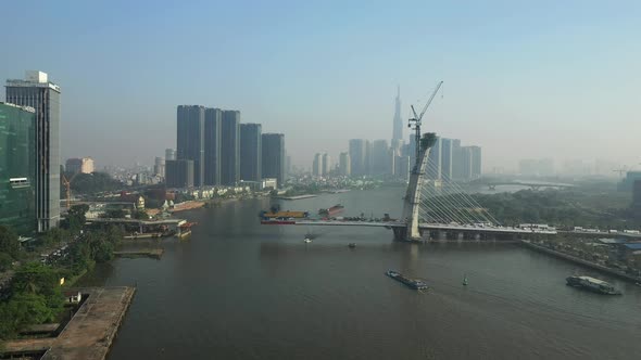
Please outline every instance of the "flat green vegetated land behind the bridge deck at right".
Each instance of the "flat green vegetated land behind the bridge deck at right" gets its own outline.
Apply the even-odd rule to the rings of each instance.
[[[523,190],[475,194],[475,200],[503,224],[549,223],[557,227],[638,228],[628,209],[629,194],[578,190]]]

